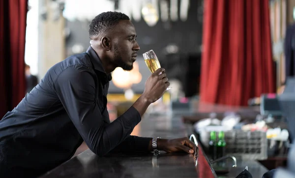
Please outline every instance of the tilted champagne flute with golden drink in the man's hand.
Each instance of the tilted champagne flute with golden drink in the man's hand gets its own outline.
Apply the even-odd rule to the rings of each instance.
[[[147,66],[148,66],[148,69],[151,73],[154,73],[157,69],[161,68],[160,62],[159,62],[156,54],[154,53],[154,51],[149,50],[148,52],[143,53],[143,56],[144,56]],[[168,87],[166,89],[166,91],[170,90],[170,89],[171,89],[171,87]]]

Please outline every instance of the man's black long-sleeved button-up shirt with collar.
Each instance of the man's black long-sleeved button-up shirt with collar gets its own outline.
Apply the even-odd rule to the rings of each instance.
[[[54,65],[0,121],[0,165],[52,169],[70,159],[83,140],[100,156],[148,151],[150,138],[130,136],[141,121],[134,107],[110,123],[111,79],[91,47]]]

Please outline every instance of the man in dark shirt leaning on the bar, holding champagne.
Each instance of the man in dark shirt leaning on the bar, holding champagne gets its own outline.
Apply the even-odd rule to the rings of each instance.
[[[87,52],[54,65],[40,83],[0,121],[0,175],[35,177],[70,159],[83,140],[99,156],[151,152],[196,153],[187,138],[130,136],[148,105],[170,85],[164,69],[148,77],[142,96],[110,123],[107,91],[116,67],[130,71],[140,50],[128,16],[105,12],[89,25]]]

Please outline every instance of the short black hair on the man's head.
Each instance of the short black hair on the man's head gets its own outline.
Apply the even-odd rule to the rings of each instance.
[[[103,12],[97,15],[89,25],[90,40],[112,29],[120,20],[130,20],[126,14],[120,12]]]

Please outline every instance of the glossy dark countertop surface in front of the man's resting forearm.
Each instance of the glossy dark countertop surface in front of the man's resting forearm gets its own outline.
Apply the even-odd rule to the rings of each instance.
[[[98,157],[87,150],[42,178],[196,178],[187,154],[112,154]]]

